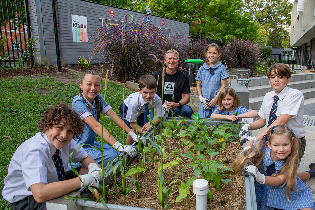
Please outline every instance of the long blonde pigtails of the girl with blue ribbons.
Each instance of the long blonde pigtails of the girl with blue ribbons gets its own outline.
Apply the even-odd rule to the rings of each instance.
[[[272,134],[271,134],[271,131]],[[296,173],[297,173],[297,168],[299,166],[299,155],[300,155],[300,139],[296,136],[293,135],[291,130],[284,126],[284,125],[277,125],[272,127],[267,132],[267,141],[271,144],[272,138],[274,135],[279,135],[283,138],[288,138],[293,141],[293,145],[291,147],[291,153],[285,158],[285,163],[284,165],[280,168],[280,170],[277,173],[272,174],[271,176],[277,177],[282,174],[286,175],[285,182],[280,186],[284,187],[286,185],[285,189],[285,195],[288,199],[289,202],[289,192],[290,190],[295,190],[296,187]],[[293,135],[293,137],[292,137]],[[234,170],[235,173],[241,174],[244,167],[247,164],[247,161],[250,161],[254,163],[257,168],[260,170],[261,169],[261,161],[265,155],[265,150],[267,144],[264,144],[265,138],[262,137],[258,140],[258,143],[255,147],[251,147],[248,150],[243,151],[232,163],[231,168]],[[264,145],[264,148],[262,148]],[[262,154],[261,154],[262,151]]]

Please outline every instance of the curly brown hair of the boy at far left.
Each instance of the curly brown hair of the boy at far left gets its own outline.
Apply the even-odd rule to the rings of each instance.
[[[38,130],[41,133],[45,133],[49,128],[59,124],[63,119],[72,126],[74,130],[73,137],[83,133],[83,120],[74,110],[67,106],[66,102],[61,102],[47,108],[43,115],[39,116],[42,117],[38,122]]]

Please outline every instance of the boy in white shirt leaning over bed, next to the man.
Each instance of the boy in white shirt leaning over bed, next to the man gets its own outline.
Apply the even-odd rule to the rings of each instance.
[[[120,117],[128,125],[128,127],[136,133],[145,133],[152,128],[152,124],[158,124],[160,119],[149,122],[148,115],[150,110],[155,109],[154,116],[163,116],[162,100],[155,93],[157,81],[152,75],[143,75],[139,79],[138,92],[130,94],[119,107]],[[161,115],[162,110],[162,115]],[[127,142],[127,145],[131,145]]]

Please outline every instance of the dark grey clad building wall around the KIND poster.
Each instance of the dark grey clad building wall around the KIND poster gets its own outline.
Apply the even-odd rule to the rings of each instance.
[[[57,63],[54,25],[52,14],[52,3],[50,0],[29,0],[31,14],[31,30],[33,39],[38,39],[34,48],[41,50],[35,52],[35,59],[41,63],[41,59],[47,57],[51,64]],[[88,39],[94,34],[95,29],[102,26],[102,19],[118,21],[125,19],[125,15],[134,14],[134,22],[138,24],[143,22],[142,17],[145,13],[135,12],[127,9],[111,7],[103,4],[92,3],[84,0],[56,0],[56,16],[58,25],[58,38],[60,47],[61,62],[67,64],[77,64],[79,56],[89,57],[92,54],[94,37],[88,43],[73,42],[72,40],[72,22],[71,15],[80,15],[87,17]],[[109,16],[109,10],[115,11],[115,16]],[[171,29],[170,35],[180,34],[189,37],[189,23],[150,15],[151,24],[162,29]],[[129,18],[128,18],[129,19]],[[162,20],[165,25],[162,26]],[[144,20],[145,21],[145,20]],[[91,62],[99,63],[100,55],[91,58]]]

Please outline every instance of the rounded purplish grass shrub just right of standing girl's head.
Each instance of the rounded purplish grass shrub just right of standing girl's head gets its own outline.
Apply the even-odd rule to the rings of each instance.
[[[233,39],[221,50],[221,59],[229,68],[243,68],[255,70],[259,60],[260,46],[250,40]]]

